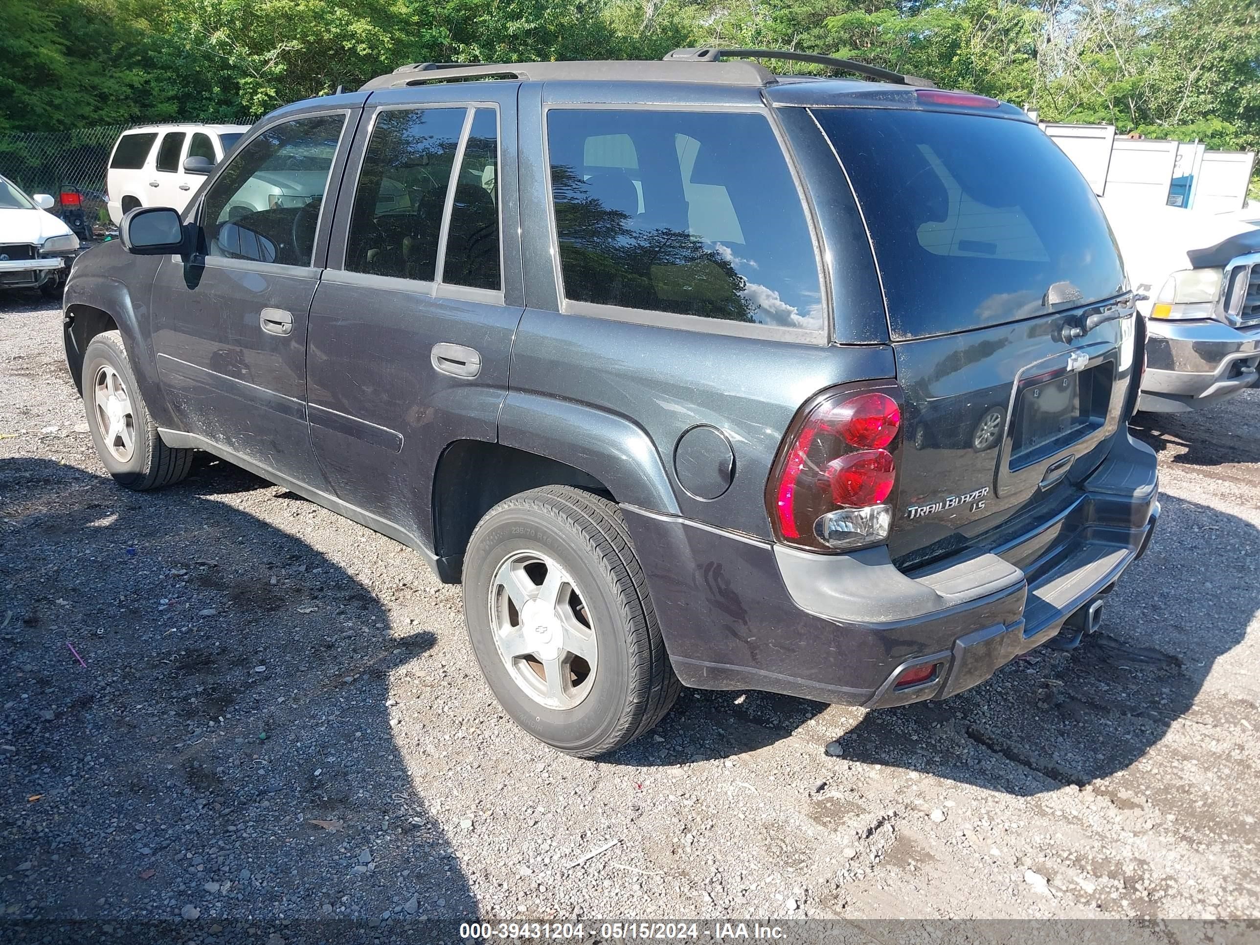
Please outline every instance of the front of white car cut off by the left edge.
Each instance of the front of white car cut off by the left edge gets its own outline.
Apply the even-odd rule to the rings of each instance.
[[[0,176],[0,289],[39,289],[53,296],[66,285],[78,237],[48,213],[53,198],[28,197]]]

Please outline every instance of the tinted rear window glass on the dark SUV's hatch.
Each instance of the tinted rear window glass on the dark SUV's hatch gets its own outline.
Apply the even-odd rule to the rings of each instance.
[[[814,115],[862,205],[893,338],[1121,291],[1124,267],[1094,192],[1036,125],[882,108]]]

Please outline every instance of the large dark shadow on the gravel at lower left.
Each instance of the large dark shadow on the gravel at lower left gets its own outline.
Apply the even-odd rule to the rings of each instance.
[[[203,467],[137,495],[0,461],[5,921],[183,912],[179,941],[294,941],[310,926],[289,921],[325,917],[331,941],[336,919],[476,914],[386,704],[432,634],[391,636],[339,566],[203,498],[234,484],[258,480]]]

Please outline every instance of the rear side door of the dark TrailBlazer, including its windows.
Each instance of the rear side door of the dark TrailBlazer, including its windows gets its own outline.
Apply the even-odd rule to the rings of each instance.
[[[494,442],[523,312],[517,84],[378,92],[311,307],[311,440],[338,498],[432,548],[445,446]]]

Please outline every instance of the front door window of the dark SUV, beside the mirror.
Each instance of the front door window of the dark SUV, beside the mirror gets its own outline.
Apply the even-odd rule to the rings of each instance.
[[[207,256],[310,266],[344,123],[340,115],[296,118],[249,141],[202,204]]]

